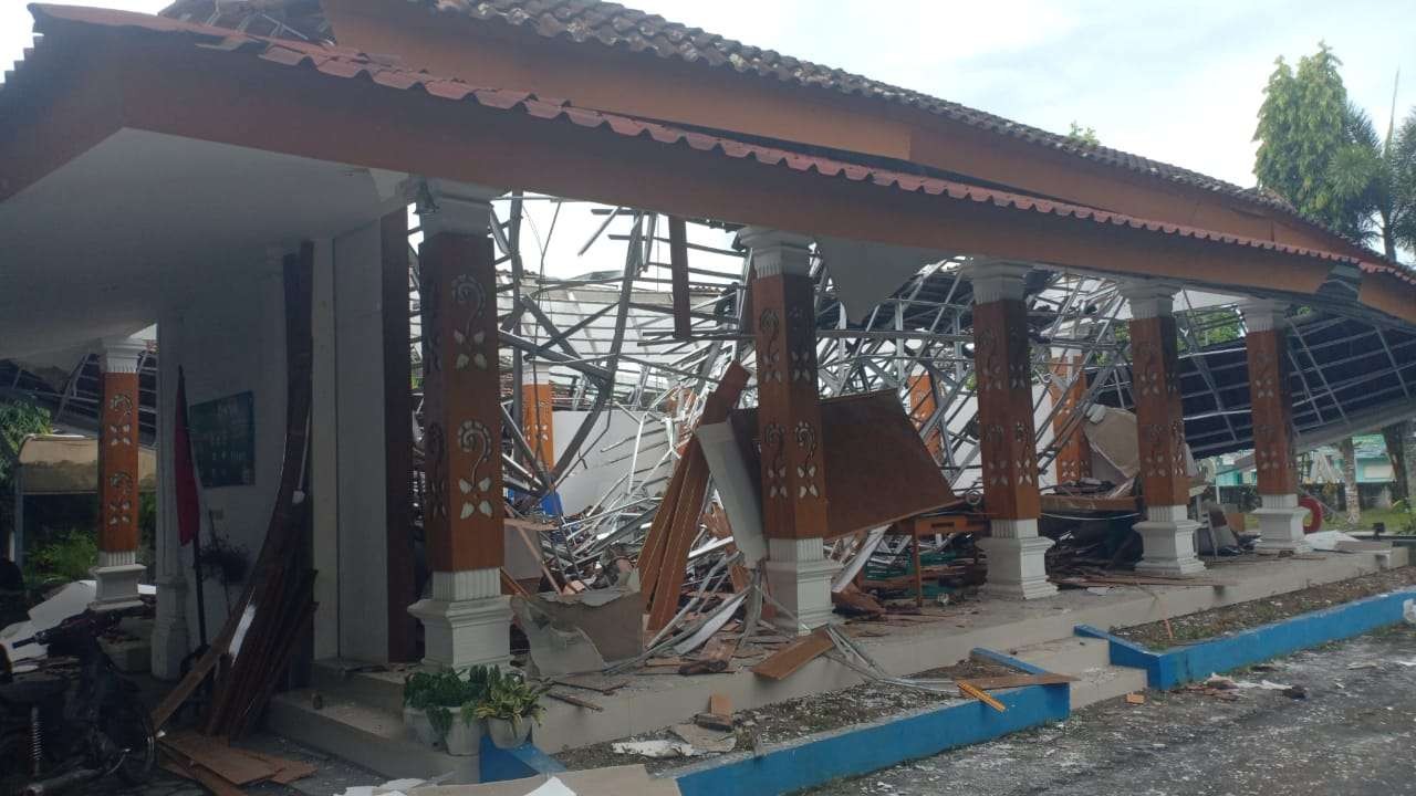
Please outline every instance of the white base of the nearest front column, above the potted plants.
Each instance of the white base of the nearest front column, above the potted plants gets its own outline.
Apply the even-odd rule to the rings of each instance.
[[[423,623],[423,663],[445,669],[511,660],[511,603],[500,568],[433,572],[429,599],[408,612]]]

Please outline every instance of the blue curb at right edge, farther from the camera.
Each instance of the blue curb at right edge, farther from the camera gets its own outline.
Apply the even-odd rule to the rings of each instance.
[[[1209,677],[1216,671],[1229,671],[1395,625],[1402,620],[1402,603],[1408,599],[1416,599],[1416,589],[1403,589],[1313,613],[1301,613],[1232,636],[1163,652],[1153,652],[1087,625],[1078,625],[1075,632],[1079,636],[1106,639],[1110,644],[1109,653],[1113,664],[1144,669],[1146,684],[1151,688],[1165,690]]]

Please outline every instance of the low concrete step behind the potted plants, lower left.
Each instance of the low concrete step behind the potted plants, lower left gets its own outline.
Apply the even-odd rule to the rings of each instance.
[[[372,769],[389,779],[436,776],[452,772],[447,783],[477,782],[479,756],[453,756],[412,738],[402,712],[382,711],[351,698],[319,691],[323,707],[313,707],[314,688],[276,694],[266,711],[266,725],[292,741]]]

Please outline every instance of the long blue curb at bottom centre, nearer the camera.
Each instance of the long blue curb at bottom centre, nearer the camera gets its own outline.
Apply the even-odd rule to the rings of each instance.
[[[977,649],[974,654],[1029,674],[1044,673],[993,650]],[[758,755],[726,755],[673,776],[684,796],[776,796],[1062,721],[1072,704],[1065,684],[1008,688],[993,695],[1008,710],[998,712],[967,701],[804,738]]]

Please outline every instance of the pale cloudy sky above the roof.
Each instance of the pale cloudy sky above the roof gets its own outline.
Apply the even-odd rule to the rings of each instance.
[[[395,1],[395,0],[389,0]],[[167,0],[92,0],[157,11]],[[1385,130],[1416,105],[1410,0],[632,0],[712,33],[1253,184],[1253,126],[1273,59],[1327,40],[1348,92]],[[30,41],[0,0],[0,59]],[[573,101],[573,98],[572,98]]]

